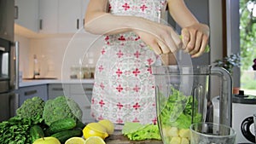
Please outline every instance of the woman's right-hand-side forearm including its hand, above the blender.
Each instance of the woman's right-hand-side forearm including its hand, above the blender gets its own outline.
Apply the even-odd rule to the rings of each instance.
[[[202,55],[208,43],[209,27],[201,24],[183,0],[168,0],[169,12],[182,29],[184,51],[192,57]]]

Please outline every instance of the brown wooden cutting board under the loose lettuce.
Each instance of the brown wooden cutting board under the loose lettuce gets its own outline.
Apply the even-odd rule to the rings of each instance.
[[[125,135],[122,135],[120,130],[114,131],[105,141],[107,144],[163,144],[160,140],[131,141]]]

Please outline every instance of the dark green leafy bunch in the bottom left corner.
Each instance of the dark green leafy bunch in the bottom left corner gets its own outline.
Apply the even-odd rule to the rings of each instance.
[[[0,143],[2,144],[30,144],[29,130],[35,122],[32,118],[15,116],[0,123]]]

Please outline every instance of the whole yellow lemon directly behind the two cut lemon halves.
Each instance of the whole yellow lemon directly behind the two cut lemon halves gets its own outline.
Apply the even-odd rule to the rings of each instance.
[[[85,139],[91,136],[99,136],[105,140],[105,138],[108,137],[106,128],[98,123],[87,124],[83,129],[83,135]]]

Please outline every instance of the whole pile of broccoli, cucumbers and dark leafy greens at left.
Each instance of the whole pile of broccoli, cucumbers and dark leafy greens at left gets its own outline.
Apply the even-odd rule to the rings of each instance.
[[[30,144],[45,134],[64,142],[67,136],[82,135],[81,119],[82,110],[72,99],[58,96],[44,101],[36,96],[24,101],[15,117],[0,123],[0,143]],[[61,133],[56,134],[58,132]],[[67,134],[66,137],[62,133]]]

